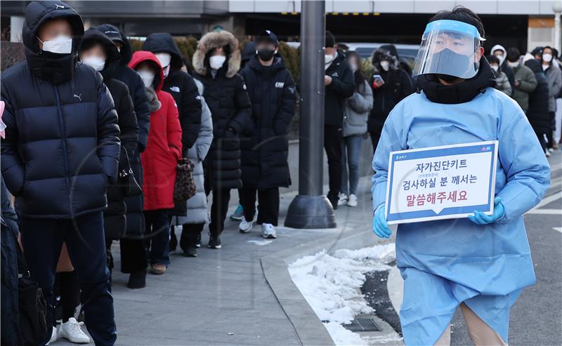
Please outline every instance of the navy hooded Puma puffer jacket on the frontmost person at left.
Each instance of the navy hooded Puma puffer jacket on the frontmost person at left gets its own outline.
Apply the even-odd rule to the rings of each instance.
[[[39,49],[37,33],[48,19],[67,18],[71,54]],[[81,18],[61,1],[34,1],[25,11],[27,60],[2,74],[1,171],[27,218],[70,219],[106,207],[107,182],[117,178],[117,112],[102,76],[75,64]],[[70,58],[71,57],[71,58]]]

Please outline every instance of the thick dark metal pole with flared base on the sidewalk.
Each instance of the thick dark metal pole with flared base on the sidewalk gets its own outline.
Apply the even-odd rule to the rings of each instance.
[[[302,1],[301,6],[299,195],[289,205],[285,226],[334,228],[332,204],[322,195],[325,1]]]

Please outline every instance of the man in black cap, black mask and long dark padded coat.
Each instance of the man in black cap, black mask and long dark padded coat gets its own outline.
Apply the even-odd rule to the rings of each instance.
[[[251,100],[254,131],[242,137],[242,189],[240,201],[244,218],[240,231],[250,231],[259,199],[257,223],[262,237],[276,238],[279,218],[279,187],[291,185],[287,127],[296,104],[296,88],[291,73],[277,53],[277,36],[266,30],[256,36],[257,54],[240,74]]]

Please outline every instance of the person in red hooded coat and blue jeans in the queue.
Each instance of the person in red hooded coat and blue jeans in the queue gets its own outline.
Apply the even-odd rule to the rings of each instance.
[[[176,164],[181,159],[178,107],[174,98],[162,91],[164,72],[153,53],[135,52],[129,67],[143,79],[150,105],[148,144],[141,154],[144,213],[149,234],[146,245],[150,248],[150,272],[164,274],[170,263],[170,225],[166,211],[174,208]]]

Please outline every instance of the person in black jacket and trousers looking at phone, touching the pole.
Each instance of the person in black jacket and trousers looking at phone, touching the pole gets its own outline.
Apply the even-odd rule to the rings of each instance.
[[[325,46],[324,149],[328,157],[327,197],[332,207],[337,209],[341,187],[341,126],[344,125],[345,101],[355,92],[355,84],[353,71],[347,65],[344,53],[338,51],[331,32],[326,32]]]

